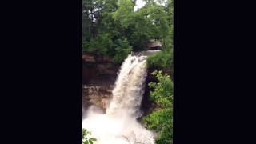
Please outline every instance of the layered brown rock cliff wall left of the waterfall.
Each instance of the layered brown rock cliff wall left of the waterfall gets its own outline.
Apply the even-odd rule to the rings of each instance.
[[[106,110],[112,97],[114,82],[121,65],[102,54],[82,54],[82,105],[94,104]]]

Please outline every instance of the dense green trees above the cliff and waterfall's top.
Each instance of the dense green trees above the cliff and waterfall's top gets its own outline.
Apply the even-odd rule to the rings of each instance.
[[[168,41],[168,9],[149,1],[134,11],[134,0],[82,0],[82,50],[107,54],[120,63],[130,50],[146,50],[151,39]],[[124,39],[125,46],[122,46]],[[117,54],[121,54],[118,56]]]

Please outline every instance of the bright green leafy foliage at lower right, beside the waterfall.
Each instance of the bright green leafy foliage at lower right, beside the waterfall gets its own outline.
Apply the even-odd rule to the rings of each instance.
[[[152,74],[158,78],[158,83],[150,82],[154,88],[150,92],[150,98],[157,102],[160,108],[143,118],[149,129],[158,133],[157,144],[172,144],[173,141],[173,82],[169,75],[154,71]]]

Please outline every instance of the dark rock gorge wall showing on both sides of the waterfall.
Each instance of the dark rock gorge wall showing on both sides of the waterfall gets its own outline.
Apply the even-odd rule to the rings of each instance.
[[[110,105],[114,82],[120,66],[121,64],[115,64],[112,58],[102,54],[84,53],[82,55],[82,105],[85,110],[94,104],[105,111],[106,107]],[[158,81],[154,75],[151,75],[154,70],[162,70],[170,75],[173,73],[173,70],[168,68],[151,67],[148,70],[142,99],[144,114],[150,113],[155,107],[154,103],[149,100],[150,88],[147,85],[148,82]]]

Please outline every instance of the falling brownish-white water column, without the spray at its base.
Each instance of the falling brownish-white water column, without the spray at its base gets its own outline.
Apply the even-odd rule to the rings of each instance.
[[[139,108],[142,102],[146,79],[146,56],[129,55],[123,62],[113,90],[113,99],[106,114],[113,116],[122,113],[136,118],[141,117]]]

